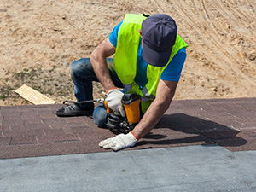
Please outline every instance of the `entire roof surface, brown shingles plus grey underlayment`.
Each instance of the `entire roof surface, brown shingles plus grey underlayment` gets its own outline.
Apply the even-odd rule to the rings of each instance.
[[[0,191],[256,191],[256,98],[173,101],[134,148],[61,105],[0,108]],[[65,155],[66,154],[66,155]],[[28,158],[29,157],[29,158]]]

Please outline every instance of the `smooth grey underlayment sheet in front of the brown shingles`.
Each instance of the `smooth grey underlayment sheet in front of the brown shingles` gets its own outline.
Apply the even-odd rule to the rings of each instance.
[[[256,191],[256,151],[218,145],[0,160],[0,191]]]

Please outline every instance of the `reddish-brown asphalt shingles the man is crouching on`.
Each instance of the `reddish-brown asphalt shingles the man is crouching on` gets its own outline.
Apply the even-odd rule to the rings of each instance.
[[[59,118],[62,105],[0,107],[0,158],[104,152],[114,134],[91,117]],[[173,101],[138,148],[217,143],[230,151],[256,149],[256,98]]]

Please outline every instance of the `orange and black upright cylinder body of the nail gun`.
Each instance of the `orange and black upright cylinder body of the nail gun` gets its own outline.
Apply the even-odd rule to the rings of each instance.
[[[130,124],[137,124],[141,118],[140,102],[141,96],[137,95],[136,92],[126,92],[122,98],[126,118]]]

